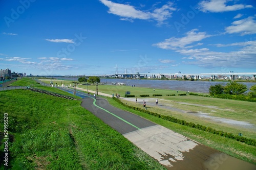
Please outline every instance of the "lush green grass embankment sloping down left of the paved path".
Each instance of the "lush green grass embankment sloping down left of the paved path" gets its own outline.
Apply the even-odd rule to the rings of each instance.
[[[24,82],[35,84],[23,79],[14,85]],[[8,168],[165,169],[80,103],[30,90],[0,91],[1,132],[8,113],[8,134],[14,135],[8,143]],[[2,141],[1,154],[4,147]],[[1,169],[6,169],[3,161]]]

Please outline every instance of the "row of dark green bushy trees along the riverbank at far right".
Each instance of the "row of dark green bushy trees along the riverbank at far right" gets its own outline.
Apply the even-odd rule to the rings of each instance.
[[[214,86],[210,86],[209,88],[209,94],[210,95],[218,95],[218,94],[231,94],[231,95],[241,95],[246,92],[247,86],[238,83],[238,82],[229,82],[225,86],[223,84],[216,84]],[[248,93],[248,96],[251,96],[252,98],[256,97],[256,85],[251,86],[250,92]]]

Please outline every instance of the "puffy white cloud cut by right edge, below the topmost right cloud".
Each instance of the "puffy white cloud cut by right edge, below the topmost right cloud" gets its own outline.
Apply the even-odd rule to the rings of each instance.
[[[232,26],[225,28],[229,34],[240,33],[241,35],[256,34],[256,20],[250,16],[245,19],[232,22]]]

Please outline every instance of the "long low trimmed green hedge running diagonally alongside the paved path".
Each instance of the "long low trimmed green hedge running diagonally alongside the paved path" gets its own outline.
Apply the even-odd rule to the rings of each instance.
[[[237,140],[237,141],[249,144],[249,145],[256,146],[256,140],[255,139],[250,139],[250,138],[246,138],[246,137],[239,136],[239,135],[233,135],[232,133],[226,133],[226,132],[223,132],[222,130],[212,129],[212,128],[206,127],[204,125],[194,124],[192,122],[186,122],[185,120],[178,119],[178,118],[175,118],[175,117],[172,117],[172,116],[158,114],[158,113],[148,111],[148,110],[145,110],[145,109],[142,109],[142,108],[134,107],[134,106],[128,106],[128,105],[125,105],[124,103],[122,103],[117,98],[112,98],[112,99],[117,101],[118,103],[120,103],[121,105],[123,105],[127,108],[138,110],[140,112],[150,114],[150,115],[162,118],[164,120],[168,120],[169,122],[177,123],[177,124],[188,126],[188,127],[191,127],[191,128],[196,128],[198,130],[202,130],[202,131],[205,131],[205,132],[208,132],[208,133],[216,134],[216,135],[219,135],[219,136],[223,136],[223,137],[234,139],[234,140]]]

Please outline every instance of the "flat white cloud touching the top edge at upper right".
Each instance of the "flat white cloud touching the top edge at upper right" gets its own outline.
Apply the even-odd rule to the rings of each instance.
[[[226,12],[226,11],[237,11],[244,8],[252,8],[251,5],[234,4],[227,5],[227,3],[233,2],[233,0],[206,0],[201,1],[199,5],[200,11],[203,12]]]

